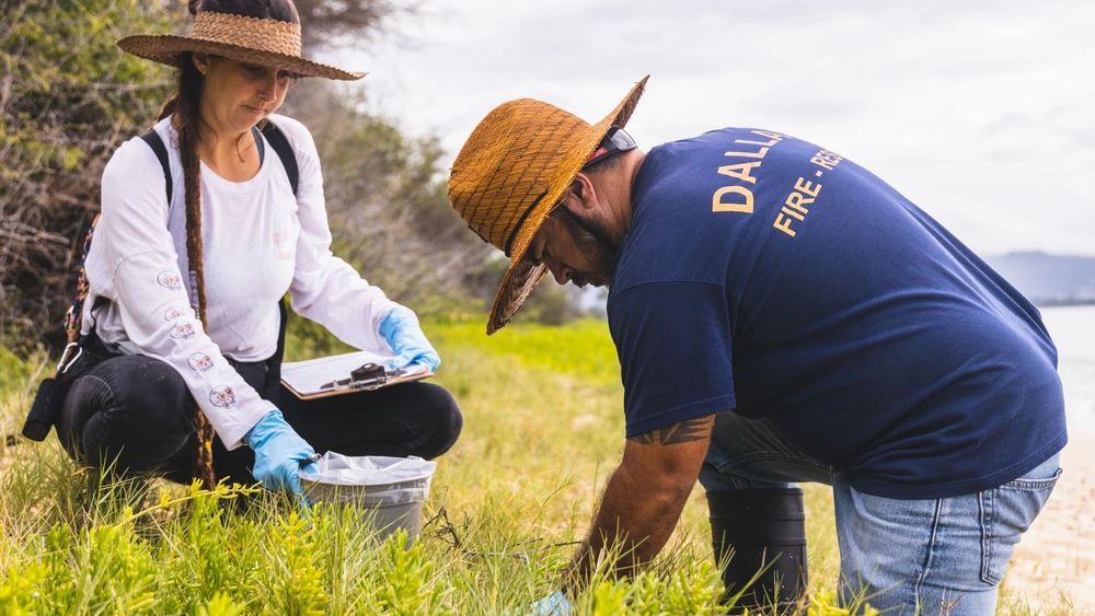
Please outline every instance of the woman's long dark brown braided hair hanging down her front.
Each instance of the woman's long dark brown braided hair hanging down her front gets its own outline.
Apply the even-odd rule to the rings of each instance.
[[[297,8],[292,0],[189,0],[187,9],[192,15],[209,11],[300,23],[300,16],[297,14]],[[200,111],[205,77],[187,55],[180,62],[177,79],[177,90],[164,103],[160,111],[160,119],[172,116],[172,123],[178,133],[178,154],[183,162],[183,186],[186,204],[186,256],[191,270],[191,290],[196,295],[191,298],[191,303],[197,310],[203,328],[208,332],[205,263],[201,249],[201,164],[198,158],[199,129],[205,121]],[[212,466],[212,439],[215,434],[212,425],[209,423],[200,408],[195,410],[195,427],[198,437],[198,451],[194,475],[201,479],[206,489],[212,489],[217,485]]]

